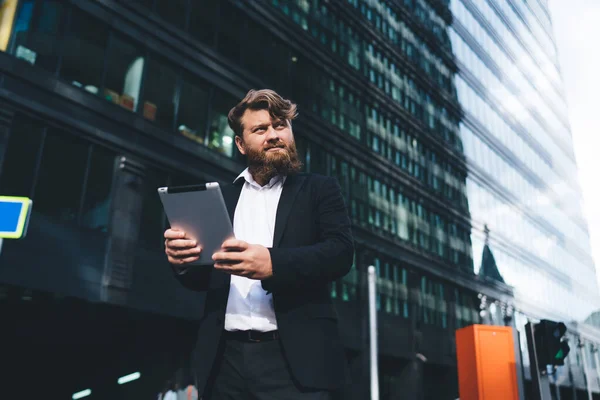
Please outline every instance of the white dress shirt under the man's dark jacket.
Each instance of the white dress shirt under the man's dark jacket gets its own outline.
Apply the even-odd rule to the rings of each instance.
[[[233,233],[236,239],[250,244],[273,247],[275,216],[285,177],[276,176],[260,186],[246,168],[236,181],[242,178],[245,182],[235,208]],[[259,280],[232,275],[225,330],[268,332],[275,329],[273,295],[267,294]]]

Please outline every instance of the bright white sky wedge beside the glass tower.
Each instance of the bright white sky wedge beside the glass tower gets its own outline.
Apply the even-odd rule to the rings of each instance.
[[[584,213],[596,269],[599,270],[600,1],[550,0],[549,5],[569,105]]]

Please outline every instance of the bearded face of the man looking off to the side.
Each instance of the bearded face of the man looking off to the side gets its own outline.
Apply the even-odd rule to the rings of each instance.
[[[243,138],[236,136],[235,144],[240,153],[248,157],[251,169],[274,169],[276,173],[285,174],[290,172],[290,164],[298,163],[288,121],[272,120],[268,110],[246,110],[241,122]]]

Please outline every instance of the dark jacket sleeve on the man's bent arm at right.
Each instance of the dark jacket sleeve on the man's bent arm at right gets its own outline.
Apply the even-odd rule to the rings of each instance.
[[[318,193],[317,242],[310,246],[269,249],[273,276],[262,281],[266,291],[327,284],[350,271],[354,243],[340,185],[335,178],[327,177]]]

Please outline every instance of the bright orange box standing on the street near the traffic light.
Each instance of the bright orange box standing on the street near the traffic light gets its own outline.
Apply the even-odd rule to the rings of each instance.
[[[460,400],[519,400],[512,328],[457,330],[456,357]]]

